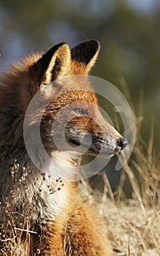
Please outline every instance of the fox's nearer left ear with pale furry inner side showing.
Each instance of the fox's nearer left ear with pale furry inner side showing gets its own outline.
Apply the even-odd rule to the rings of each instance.
[[[40,83],[50,83],[68,72],[71,62],[71,50],[62,42],[55,45],[33,64],[34,72],[39,77]]]

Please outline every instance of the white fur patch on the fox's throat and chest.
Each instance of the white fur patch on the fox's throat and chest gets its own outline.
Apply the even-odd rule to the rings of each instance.
[[[52,161],[41,162],[41,165],[45,173],[35,168],[28,174],[27,192],[19,200],[23,208],[33,206],[31,222],[47,223],[60,215],[67,217],[73,193],[71,188],[78,167],[68,153],[61,152],[52,154]]]

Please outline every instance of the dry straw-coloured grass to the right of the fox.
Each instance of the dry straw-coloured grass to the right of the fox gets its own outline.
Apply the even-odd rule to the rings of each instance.
[[[124,81],[122,86],[127,99],[130,99]],[[108,178],[103,173],[103,214],[108,221],[115,256],[160,255],[160,161],[153,148],[153,124],[148,143],[140,135],[143,122],[142,96],[143,94],[140,97],[139,113],[137,117],[135,115],[135,147],[129,162],[124,165],[116,192],[111,191]],[[126,196],[126,180],[129,181],[127,186],[132,190],[131,198]]]

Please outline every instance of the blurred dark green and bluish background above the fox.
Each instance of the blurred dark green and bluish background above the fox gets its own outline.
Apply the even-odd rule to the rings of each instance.
[[[97,39],[100,57],[92,75],[121,89],[125,80],[138,110],[143,90],[143,138],[154,120],[154,145],[160,129],[159,0],[1,0],[0,70],[20,56],[59,42],[72,47]]]

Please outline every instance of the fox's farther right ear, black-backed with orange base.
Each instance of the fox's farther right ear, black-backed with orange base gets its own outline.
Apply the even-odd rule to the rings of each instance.
[[[96,40],[81,42],[71,49],[71,66],[76,74],[87,74],[94,66],[100,51],[100,43]]]

